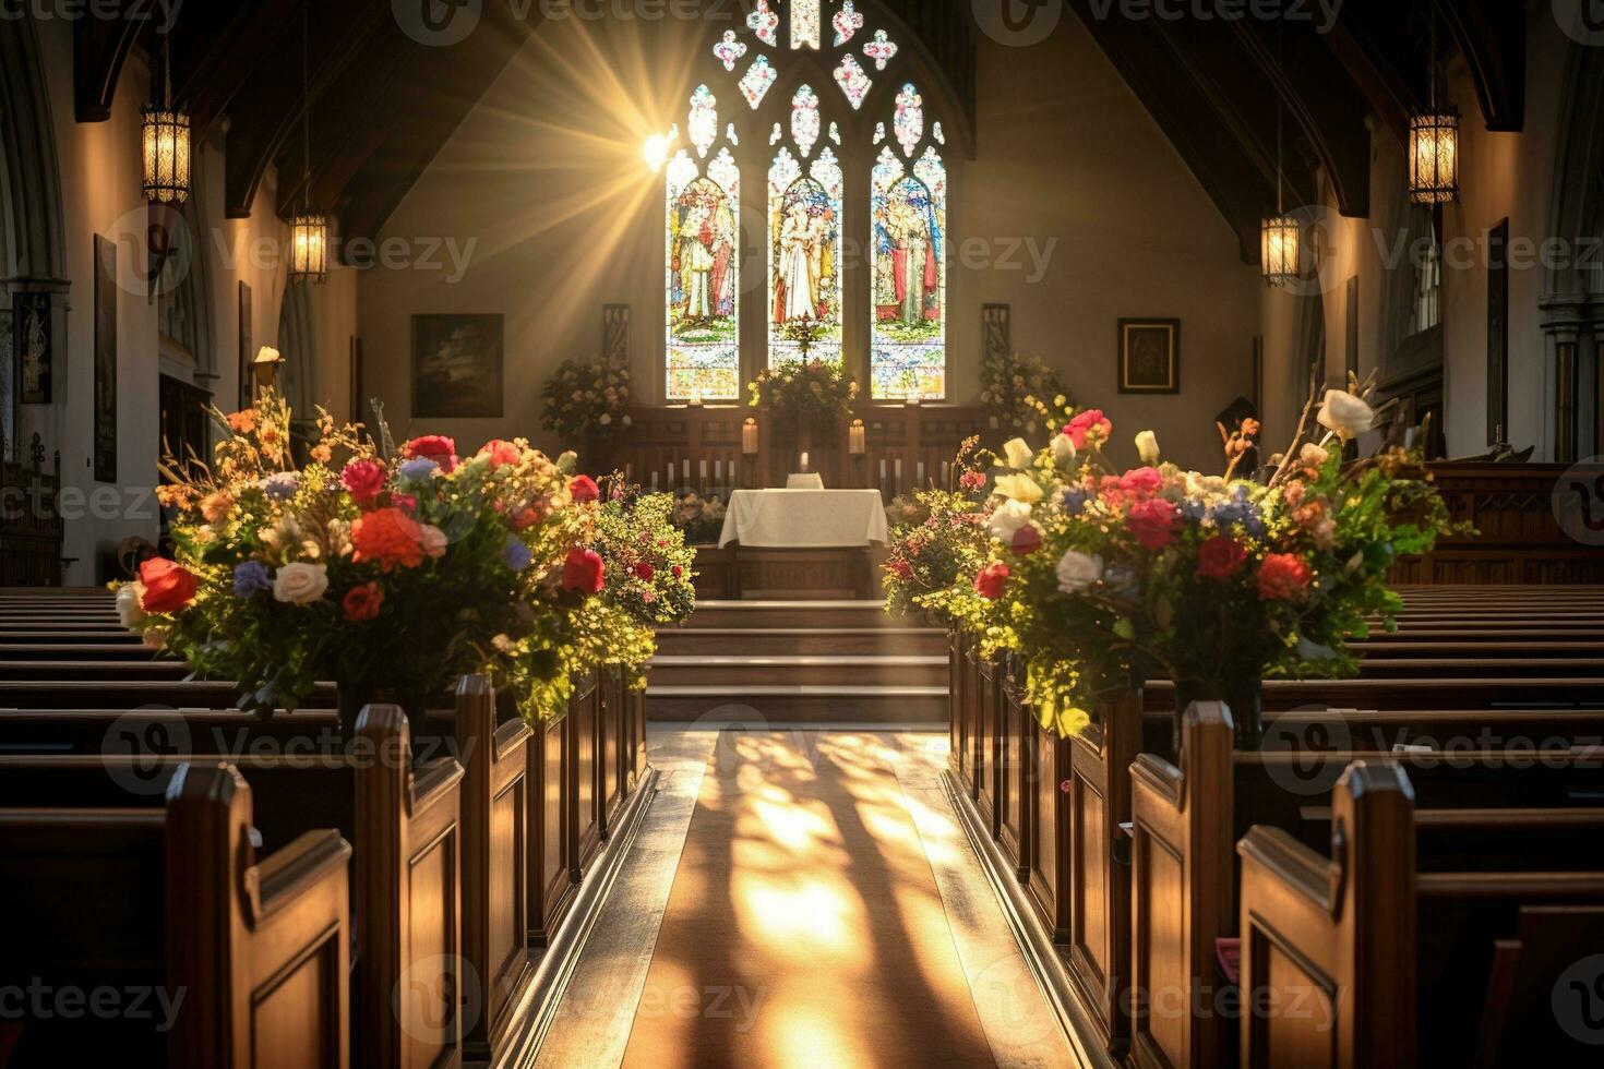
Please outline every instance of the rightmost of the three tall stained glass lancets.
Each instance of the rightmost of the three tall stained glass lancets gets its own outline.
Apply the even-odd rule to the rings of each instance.
[[[935,149],[926,149],[911,175],[890,146],[881,149],[869,175],[869,220],[871,396],[943,397],[946,168]]]

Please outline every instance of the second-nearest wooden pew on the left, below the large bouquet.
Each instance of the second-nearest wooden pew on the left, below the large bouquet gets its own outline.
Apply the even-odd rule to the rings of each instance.
[[[356,848],[354,1050],[364,1066],[462,1059],[456,1005],[460,941],[462,766],[415,766],[404,713],[369,705],[350,753],[241,756],[268,843],[334,824]],[[136,806],[130,784],[160,789],[188,758],[0,756],[0,805]]]

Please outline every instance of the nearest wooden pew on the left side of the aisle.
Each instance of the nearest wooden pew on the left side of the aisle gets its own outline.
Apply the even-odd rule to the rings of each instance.
[[[8,1064],[350,1064],[351,846],[306,830],[258,856],[255,816],[220,761],[180,764],[165,808],[0,808],[0,986],[80,997],[24,1018]],[[80,1019],[103,990],[119,1016]]]

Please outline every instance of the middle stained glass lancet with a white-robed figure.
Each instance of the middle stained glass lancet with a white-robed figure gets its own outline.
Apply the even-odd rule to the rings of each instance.
[[[802,171],[781,147],[768,168],[768,362],[807,354],[840,362],[840,194],[836,154],[824,146]]]

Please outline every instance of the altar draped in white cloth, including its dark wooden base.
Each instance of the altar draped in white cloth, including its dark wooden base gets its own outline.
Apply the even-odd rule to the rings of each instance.
[[[879,490],[735,490],[715,555],[699,555],[698,593],[744,599],[879,596],[887,539]]]

